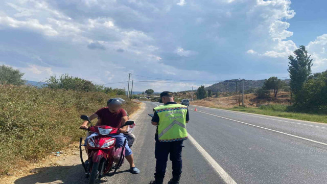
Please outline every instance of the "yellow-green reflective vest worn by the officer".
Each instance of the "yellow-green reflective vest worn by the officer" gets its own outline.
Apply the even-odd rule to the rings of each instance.
[[[173,142],[188,139],[186,112],[188,107],[180,104],[159,105],[154,108],[159,116],[158,139]]]

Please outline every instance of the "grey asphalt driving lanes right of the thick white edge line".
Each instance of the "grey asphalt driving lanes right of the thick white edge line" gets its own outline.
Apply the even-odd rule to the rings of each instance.
[[[189,109],[189,134],[235,182],[327,183],[326,124],[192,105]],[[183,160],[189,157],[184,154]],[[192,167],[201,165],[206,163]]]

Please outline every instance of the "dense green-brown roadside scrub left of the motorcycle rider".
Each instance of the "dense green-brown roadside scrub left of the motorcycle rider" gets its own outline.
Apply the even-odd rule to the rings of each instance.
[[[86,133],[79,129],[80,115],[89,116],[113,97],[100,92],[0,85],[0,175],[78,141]],[[124,104],[128,113],[137,106],[130,100]]]

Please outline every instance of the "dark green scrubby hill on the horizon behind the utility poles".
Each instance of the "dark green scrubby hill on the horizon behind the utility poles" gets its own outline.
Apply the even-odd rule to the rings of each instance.
[[[239,81],[238,79],[232,79],[232,80],[225,80],[223,82],[219,82],[216,84],[213,84],[211,86],[205,87],[205,89],[211,89],[213,92],[235,92],[236,89],[236,81]],[[289,83],[289,79],[284,80],[286,83]],[[244,80],[244,91],[249,89],[255,89],[260,88],[264,85],[265,80]],[[238,82],[238,90],[240,87],[240,84]],[[242,88],[242,82],[241,82],[241,88]]]

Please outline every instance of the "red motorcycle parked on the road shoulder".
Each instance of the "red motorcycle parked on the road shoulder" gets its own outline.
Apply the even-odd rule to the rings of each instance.
[[[82,137],[80,138],[80,157],[82,166],[85,170],[85,175],[89,178],[89,184],[96,183],[107,173],[114,170],[112,175],[115,174],[116,170],[119,169],[124,163],[125,158],[125,145],[127,140],[122,147],[116,147],[116,139],[114,137],[108,136],[109,134],[119,134],[120,130],[118,128],[113,128],[110,126],[93,126],[88,116],[82,115],[82,120],[88,121],[91,126],[87,128],[91,136],[86,145],[87,150],[87,161],[84,163],[82,156]],[[127,121],[124,126],[133,125],[134,121]]]

